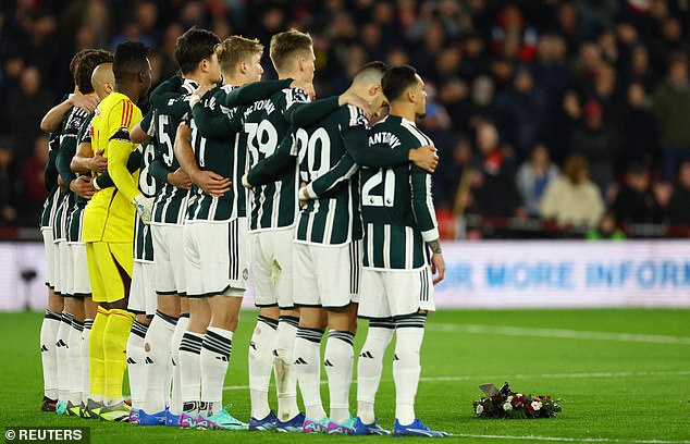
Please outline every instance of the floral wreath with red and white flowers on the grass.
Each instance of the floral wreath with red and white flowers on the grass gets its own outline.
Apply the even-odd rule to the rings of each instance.
[[[493,387],[485,390],[483,387]],[[563,399],[551,396],[523,395],[510,390],[506,382],[501,390],[493,384],[480,386],[486,396],[472,402],[478,418],[532,419],[555,418]]]

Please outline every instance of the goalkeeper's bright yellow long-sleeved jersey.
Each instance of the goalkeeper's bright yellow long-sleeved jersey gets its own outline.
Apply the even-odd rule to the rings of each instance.
[[[96,193],[84,210],[84,242],[133,242],[132,206],[139,190],[139,172],[127,171],[127,160],[136,148],[130,131],[141,120],[141,110],[120,92],[111,92],[96,109],[91,128],[94,152],[102,149],[108,173],[115,186]]]

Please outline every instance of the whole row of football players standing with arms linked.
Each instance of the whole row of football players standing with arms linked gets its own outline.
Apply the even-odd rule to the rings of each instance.
[[[143,115],[147,53],[132,41],[81,51],[74,94],[41,122],[51,132],[41,409],[206,430],[445,435],[415,414],[426,317],[445,271],[416,70],[370,62],[345,92],[317,100],[308,34],[274,35],[279,79],[261,81],[258,40],[194,27],[176,41],[181,75]],[[245,423],[222,394],[250,267],[259,314]],[[352,415],[358,317],[369,329]],[[394,334],[389,431],[374,398]]]

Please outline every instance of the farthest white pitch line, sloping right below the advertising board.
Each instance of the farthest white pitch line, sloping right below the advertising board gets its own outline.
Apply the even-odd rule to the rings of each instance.
[[[447,333],[497,334],[502,336],[558,337],[567,340],[595,340],[637,342],[648,344],[690,345],[690,337],[653,334],[588,332],[580,330],[528,329],[523,326],[428,323],[427,330]]]

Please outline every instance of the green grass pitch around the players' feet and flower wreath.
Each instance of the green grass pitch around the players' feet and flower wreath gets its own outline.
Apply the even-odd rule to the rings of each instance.
[[[245,311],[241,318],[233,338],[224,396],[225,402],[233,405],[232,415],[248,420],[249,393],[244,387],[248,383],[246,350],[256,312]],[[528,436],[560,437],[568,442],[690,440],[689,319],[690,310],[679,309],[442,310],[427,324],[417,416],[433,429],[460,435],[451,440],[463,442],[535,441],[526,439]],[[184,431],[41,412],[40,322],[40,313],[0,314],[0,337],[3,338],[0,343],[3,373],[0,424],[3,427],[90,427],[94,443],[391,440],[385,436]],[[356,350],[366,335],[366,326],[360,325]],[[509,326],[518,329],[505,329]],[[392,349],[393,344],[384,360],[377,397],[379,422],[387,429],[392,427],[395,411]],[[323,370],[321,374],[324,379]],[[471,402],[481,396],[476,385],[493,382],[500,386],[504,381],[509,381],[516,391],[564,398],[563,412],[556,419],[541,420],[475,418]],[[328,411],[325,385],[322,385],[322,394]],[[353,408],[355,396],[353,385]],[[273,393],[270,399],[274,407]],[[405,440],[409,441],[421,439]]]

